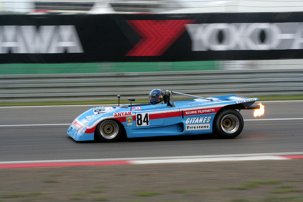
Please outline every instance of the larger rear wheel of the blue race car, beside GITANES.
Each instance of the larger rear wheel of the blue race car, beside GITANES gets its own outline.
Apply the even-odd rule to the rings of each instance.
[[[234,109],[226,109],[216,115],[213,128],[215,134],[223,139],[232,139],[237,137],[244,126],[241,114]]]

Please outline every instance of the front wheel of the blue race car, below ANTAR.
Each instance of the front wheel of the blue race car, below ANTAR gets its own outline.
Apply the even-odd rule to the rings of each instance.
[[[121,137],[122,128],[120,122],[107,119],[97,125],[95,134],[101,142],[116,142]]]

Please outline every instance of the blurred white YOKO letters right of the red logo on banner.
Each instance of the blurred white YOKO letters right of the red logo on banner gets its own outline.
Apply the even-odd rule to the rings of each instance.
[[[192,51],[303,49],[303,22],[185,25]]]

